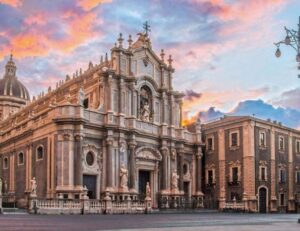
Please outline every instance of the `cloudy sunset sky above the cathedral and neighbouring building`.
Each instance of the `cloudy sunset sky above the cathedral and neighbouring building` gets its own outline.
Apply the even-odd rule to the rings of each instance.
[[[296,52],[274,56],[299,10],[300,0],[0,0],[0,73],[12,50],[37,95],[148,21],[153,49],[174,59],[186,118],[249,114],[300,128]]]

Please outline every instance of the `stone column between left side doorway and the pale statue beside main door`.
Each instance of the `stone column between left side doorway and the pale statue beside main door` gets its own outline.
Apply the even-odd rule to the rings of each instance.
[[[106,139],[106,191],[112,191],[113,189],[113,138]]]

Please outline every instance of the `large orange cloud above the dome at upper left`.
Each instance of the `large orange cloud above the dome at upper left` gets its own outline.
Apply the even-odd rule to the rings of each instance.
[[[62,39],[53,38],[53,33],[47,28],[43,14],[30,16],[24,23],[28,30],[9,38],[10,44],[2,49],[2,57],[13,49],[14,56],[24,58],[30,56],[46,56],[52,51],[70,52],[86,41],[99,35],[99,32],[93,30],[94,23],[97,19],[95,13],[89,12],[77,14],[69,11],[61,16],[64,37]],[[101,23],[97,19],[97,23]],[[40,24],[42,28],[30,27],[31,24]]]

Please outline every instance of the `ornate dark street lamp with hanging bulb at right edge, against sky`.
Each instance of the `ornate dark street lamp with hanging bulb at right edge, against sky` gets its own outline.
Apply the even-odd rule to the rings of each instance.
[[[296,61],[298,63],[298,70],[300,70],[300,17],[299,17],[299,24],[298,24],[298,31],[293,29],[288,29],[284,27],[286,32],[286,37],[284,40],[274,43],[277,47],[275,56],[279,58],[281,56],[280,45],[284,44],[290,46],[296,50]],[[300,78],[300,75],[298,75]]]

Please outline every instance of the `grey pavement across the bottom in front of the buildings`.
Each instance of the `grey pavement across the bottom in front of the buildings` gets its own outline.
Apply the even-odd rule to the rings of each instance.
[[[0,215],[0,230],[300,230],[300,214]]]

